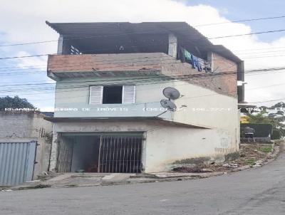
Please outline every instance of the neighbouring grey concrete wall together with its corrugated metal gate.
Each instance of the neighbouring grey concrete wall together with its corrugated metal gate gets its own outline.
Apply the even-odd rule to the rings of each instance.
[[[0,186],[36,179],[48,171],[52,123],[40,112],[0,112]]]

